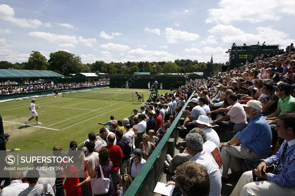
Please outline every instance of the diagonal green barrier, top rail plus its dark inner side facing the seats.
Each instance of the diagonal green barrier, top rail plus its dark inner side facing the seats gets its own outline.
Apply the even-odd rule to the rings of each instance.
[[[194,93],[195,91],[189,97],[186,104],[183,106],[183,109],[189,106],[189,101],[192,99]],[[169,150],[170,152],[174,151],[174,146],[178,138],[176,127],[178,127],[181,118],[183,118],[184,116],[185,114],[180,111],[168,131],[165,133],[153,153],[148,158],[148,161],[145,163],[145,165],[142,167],[140,172],[133,180],[132,184],[124,193],[124,196],[153,195],[153,190],[155,189],[157,182],[163,175],[164,161],[166,160],[167,150]],[[173,149],[168,149],[168,141],[170,140],[170,138],[174,139]]]

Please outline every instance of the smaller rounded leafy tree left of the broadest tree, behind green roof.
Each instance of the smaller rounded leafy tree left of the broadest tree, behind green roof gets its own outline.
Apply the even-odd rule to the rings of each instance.
[[[25,69],[47,70],[48,67],[49,63],[47,62],[46,57],[38,51],[32,51]]]

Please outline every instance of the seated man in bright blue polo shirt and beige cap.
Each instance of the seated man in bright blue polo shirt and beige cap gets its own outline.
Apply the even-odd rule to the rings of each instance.
[[[230,141],[221,145],[224,182],[228,182],[227,173],[230,165],[235,169],[236,175],[242,175],[243,171],[247,170],[244,160],[266,159],[271,152],[271,128],[261,114],[261,102],[250,100],[242,106],[245,107],[250,122],[242,132],[238,132]]]

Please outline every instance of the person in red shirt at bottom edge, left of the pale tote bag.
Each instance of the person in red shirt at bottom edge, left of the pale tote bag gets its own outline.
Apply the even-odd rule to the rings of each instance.
[[[69,157],[73,157],[73,163],[68,163],[64,167],[64,174],[65,177],[63,177],[63,192],[64,196],[82,196],[82,190],[81,186],[85,184],[86,182],[90,182],[90,176],[86,178],[83,182],[80,183],[79,181],[79,171],[77,167],[75,166],[76,160],[79,159],[78,153],[72,153],[71,151],[77,150],[76,148],[71,148],[71,150],[68,152]]]

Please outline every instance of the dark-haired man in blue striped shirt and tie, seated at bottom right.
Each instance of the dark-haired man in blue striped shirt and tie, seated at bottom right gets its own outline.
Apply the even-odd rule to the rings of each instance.
[[[243,173],[232,196],[295,195],[295,114],[278,116],[276,131],[278,137],[285,139],[280,150],[276,155],[262,160],[255,170]],[[276,165],[276,170],[266,171],[267,166],[273,164]],[[259,177],[258,180],[253,175]]]

